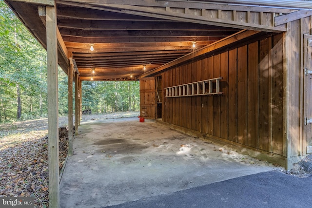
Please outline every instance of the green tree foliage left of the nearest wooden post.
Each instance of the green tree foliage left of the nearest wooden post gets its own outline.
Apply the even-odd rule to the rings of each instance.
[[[46,52],[0,0],[0,122],[46,114]],[[20,91],[20,104],[17,91]]]

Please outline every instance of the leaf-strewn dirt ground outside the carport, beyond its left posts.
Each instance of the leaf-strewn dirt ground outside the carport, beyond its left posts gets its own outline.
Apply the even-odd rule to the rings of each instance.
[[[82,121],[137,117],[138,112],[82,115]],[[68,117],[59,117],[59,127]],[[66,134],[66,133],[65,133]],[[34,208],[49,206],[48,119],[0,124],[0,197],[35,198]],[[68,152],[68,135],[59,136],[59,168]]]

